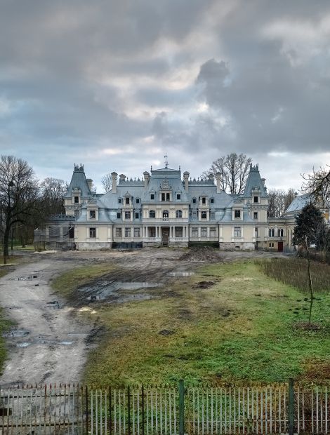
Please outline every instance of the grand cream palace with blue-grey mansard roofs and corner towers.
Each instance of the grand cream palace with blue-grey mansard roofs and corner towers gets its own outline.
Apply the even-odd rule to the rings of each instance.
[[[220,173],[192,180],[188,172],[181,174],[167,163],[144,172],[141,180],[111,175],[110,191],[96,194],[84,166],[74,165],[65,215],[51,216],[46,231],[35,232],[35,241],[47,248],[78,250],[202,245],[291,249],[293,214],[268,218],[268,193],[258,165],[251,165],[243,194],[223,192]]]

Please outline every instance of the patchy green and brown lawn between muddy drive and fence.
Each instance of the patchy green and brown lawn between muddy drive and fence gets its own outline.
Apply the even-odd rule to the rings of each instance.
[[[54,287],[74,297],[77,276],[81,285],[107,267],[76,269]],[[199,288],[202,281],[206,288]],[[84,380],[121,385],[182,377],[190,384],[329,378],[330,294],[317,293],[313,320],[319,331],[296,328],[308,319],[305,298],[246,261],[200,267],[194,276],[173,280],[158,299],[90,304],[86,316],[106,333],[88,356]]]

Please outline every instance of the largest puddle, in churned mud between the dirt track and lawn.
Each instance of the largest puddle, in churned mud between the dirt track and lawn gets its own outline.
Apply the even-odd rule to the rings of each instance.
[[[152,283],[148,281],[141,282],[124,282],[124,281],[105,281],[103,283],[98,283],[92,287],[79,288],[80,292],[91,293],[86,297],[87,300],[103,300],[107,297],[116,296],[118,290],[140,290],[141,288],[155,288],[164,286],[162,283]],[[114,302],[127,302],[128,300],[143,300],[150,299],[150,295],[125,295],[121,298],[117,298]],[[125,300],[123,300],[125,298]],[[119,300],[120,299],[120,300]]]

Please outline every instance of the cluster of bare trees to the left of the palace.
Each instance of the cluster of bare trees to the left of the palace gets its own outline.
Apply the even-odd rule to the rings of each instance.
[[[67,183],[58,178],[37,180],[34,170],[15,156],[0,156],[0,236],[4,263],[14,241],[22,246],[33,241],[34,229],[47,217],[64,213]]]

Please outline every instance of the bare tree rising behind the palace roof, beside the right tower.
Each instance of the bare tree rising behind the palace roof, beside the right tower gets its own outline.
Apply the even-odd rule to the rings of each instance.
[[[230,194],[242,194],[249,175],[252,160],[245,154],[231,153],[221,156],[211,164],[211,168],[202,174],[207,177],[211,174],[221,174],[221,189]]]

